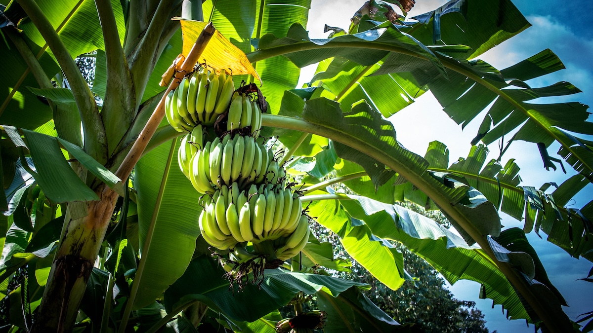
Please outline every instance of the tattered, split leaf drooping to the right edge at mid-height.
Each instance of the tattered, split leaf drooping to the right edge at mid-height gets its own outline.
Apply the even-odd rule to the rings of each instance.
[[[565,249],[573,257],[582,256],[591,261],[593,244],[589,240],[593,231],[593,215],[586,209],[565,206],[589,181],[582,175],[574,175],[560,184],[550,194],[532,186],[519,186],[519,167],[509,160],[503,167],[492,159],[486,163],[488,149],[483,145],[473,146],[467,158],[447,167],[448,149],[440,142],[431,142],[425,158],[431,164],[429,169],[457,174],[464,182],[476,187],[502,212],[515,219],[525,217],[525,232],[541,228],[548,234],[548,240]],[[525,212],[525,214],[524,214]]]

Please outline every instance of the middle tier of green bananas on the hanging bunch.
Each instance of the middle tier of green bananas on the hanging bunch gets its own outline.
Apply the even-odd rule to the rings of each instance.
[[[241,188],[264,181],[277,184],[286,177],[286,171],[275,161],[272,151],[253,137],[239,134],[232,139],[231,135],[226,135],[222,140],[216,137],[206,142],[187,169],[190,181],[200,193],[213,193],[215,187],[234,182]]]

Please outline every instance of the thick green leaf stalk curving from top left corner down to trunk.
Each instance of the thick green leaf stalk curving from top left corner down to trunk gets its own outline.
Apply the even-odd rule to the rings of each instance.
[[[105,164],[107,162],[107,137],[91,89],[88,88],[74,59],[39,6],[33,0],[20,0],[18,3],[47,41],[60,68],[68,78],[82,120],[85,152],[101,164]]]

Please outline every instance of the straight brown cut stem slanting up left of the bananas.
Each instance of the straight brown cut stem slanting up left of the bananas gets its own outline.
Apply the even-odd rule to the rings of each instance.
[[[215,28],[212,23],[206,25],[204,30],[200,33],[200,36],[197,37],[196,42],[193,44],[192,50],[190,50],[189,54],[187,55],[184,62],[181,64],[181,68],[175,73],[173,79],[171,79],[171,83],[167,87],[165,94],[162,95],[161,100],[158,102],[157,107],[154,109],[152,116],[146,122],[144,129],[140,132],[138,139],[134,142],[134,145],[127,153],[125,159],[123,160],[122,164],[116,171],[116,176],[119,179],[126,179],[127,176],[130,175],[132,169],[142,156],[144,149],[146,149],[146,145],[152,138],[152,135],[156,132],[158,125],[161,123],[163,117],[165,116],[165,98],[167,94],[177,88],[183,78],[184,73],[189,73],[192,71],[193,66],[196,65],[197,61],[199,60],[202,52],[206,49],[206,45],[212,38],[215,32]],[[110,188],[106,187],[104,191],[112,191]],[[105,193],[105,192],[104,192]]]

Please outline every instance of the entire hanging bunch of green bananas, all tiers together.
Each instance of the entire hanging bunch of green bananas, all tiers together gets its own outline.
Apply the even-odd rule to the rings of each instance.
[[[235,281],[297,255],[309,217],[285,169],[258,142],[265,98],[256,85],[234,90],[231,75],[203,68],[167,96],[167,120],[181,138],[178,163],[199,193],[202,236]]]

